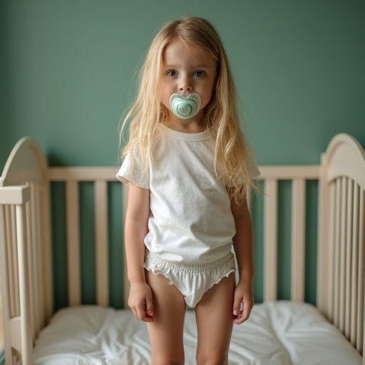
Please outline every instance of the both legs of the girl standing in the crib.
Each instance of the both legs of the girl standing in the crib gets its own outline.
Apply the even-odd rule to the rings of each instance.
[[[162,274],[146,272],[153,292],[153,318],[148,323],[153,365],[184,364],[183,329],[186,304],[175,285]],[[235,274],[210,288],[195,307],[197,364],[227,364],[233,325]]]

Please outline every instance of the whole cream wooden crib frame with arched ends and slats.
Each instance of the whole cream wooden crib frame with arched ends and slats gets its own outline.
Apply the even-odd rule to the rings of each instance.
[[[95,184],[96,302],[109,305],[108,182],[115,181],[117,170],[48,167],[32,138],[23,138],[12,150],[0,178],[0,278],[6,365],[15,364],[19,358],[24,365],[32,363],[34,341],[53,315],[51,182],[66,184],[70,306],[81,304],[78,184]],[[292,181],[291,299],[303,302],[306,181],[319,180],[317,307],[362,354],[364,150],[354,138],[340,134],[329,143],[321,165],[260,166],[259,170],[260,179],[264,180],[264,301],[277,299],[278,182]],[[127,189],[122,184],[120,188],[125,213]],[[121,224],[122,220],[120,217]],[[124,290],[128,292],[124,277]]]

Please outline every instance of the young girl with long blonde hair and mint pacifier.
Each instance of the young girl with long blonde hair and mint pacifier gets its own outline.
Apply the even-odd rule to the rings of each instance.
[[[208,21],[173,21],[155,36],[122,132],[127,123],[117,176],[129,184],[128,304],[148,324],[152,363],[184,364],[189,306],[197,364],[227,364],[232,324],[253,306],[247,200],[258,171],[240,132],[227,56]]]

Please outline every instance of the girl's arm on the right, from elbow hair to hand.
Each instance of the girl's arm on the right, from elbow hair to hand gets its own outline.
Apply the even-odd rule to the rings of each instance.
[[[231,203],[233,217],[235,218],[236,235],[233,237],[233,247],[237,257],[239,282],[235,289],[233,303],[234,322],[241,324],[250,317],[254,305],[252,282],[254,277],[254,259],[252,242],[252,223],[247,201],[237,205]],[[243,304],[243,310],[241,307]]]

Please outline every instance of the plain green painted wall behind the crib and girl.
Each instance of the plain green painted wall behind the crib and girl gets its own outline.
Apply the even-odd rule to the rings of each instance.
[[[160,26],[186,15],[222,36],[259,164],[317,164],[339,132],[365,145],[364,0],[2,0],[0,170],[24,135],[51,165],[115,164],[138,63]],[[308,225],[315,237],[312,215]]]

